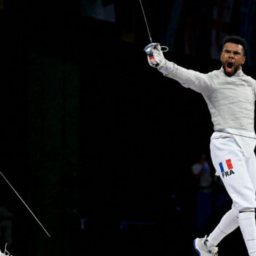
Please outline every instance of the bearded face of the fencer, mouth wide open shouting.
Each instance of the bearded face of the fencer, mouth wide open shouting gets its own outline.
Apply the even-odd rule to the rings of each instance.
[[[220,60],[222,61],[225,75],[229,77],[235,75],[245,61],[243,46],[233,42],[225,43]]]

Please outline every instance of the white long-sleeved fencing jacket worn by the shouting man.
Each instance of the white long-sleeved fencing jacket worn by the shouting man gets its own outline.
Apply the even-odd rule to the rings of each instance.
[[[256,143],[256,139],[252,139],[255,138],[256,80],[244,75],[242,70],[227,77],[223,68],[203,74],[184,69],[170,61],[166,61],[165,67],[159,71],[168,78],[178,80],[182,86],[203,94],[211,113],[214,131],[220,131],[214,132],[211,139],[219,136],[233,137],[244,149],[246,157],[251,156]]]

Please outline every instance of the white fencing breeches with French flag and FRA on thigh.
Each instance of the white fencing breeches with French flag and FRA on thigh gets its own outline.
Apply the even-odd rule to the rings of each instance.
[[[255,154],[244,157],[244,151],[232,137],[213,138],[211,159],[233,200],[233,210],[248,211],[256,208]]]

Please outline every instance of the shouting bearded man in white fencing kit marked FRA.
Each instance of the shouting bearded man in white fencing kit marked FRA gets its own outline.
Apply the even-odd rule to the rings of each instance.
[[[238,226],[249,255],[256,256],[256,80],[241,69],[245,53],[244,39],[225,37],[220,54],[222,67],[208,74],[167,61],[159,46],[148,57],[148,63],[163,75],[203,94],[214,124],[211,159],[233,204],[208,237],[195,239],[195,250],[201,256],[217,255],[217,244]]]

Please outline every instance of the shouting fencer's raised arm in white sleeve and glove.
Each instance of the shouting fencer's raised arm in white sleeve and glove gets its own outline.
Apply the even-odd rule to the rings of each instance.
[[[168,78],[173,78],[181,83],[182,86],[202,94],[208,94],[211,92],[211,89],[213,89],[214,82],[208,75],[191,69],[184,69],[171,61],[167,61],[159,46],[153,50],[153,54],[154,63],[152,63],[151,59],[148,57],[148,64],[150,64],[151,67],[156,67],[159,72],[162,72],[162,74]],[[155,62],[157,62],[157,65]]]

